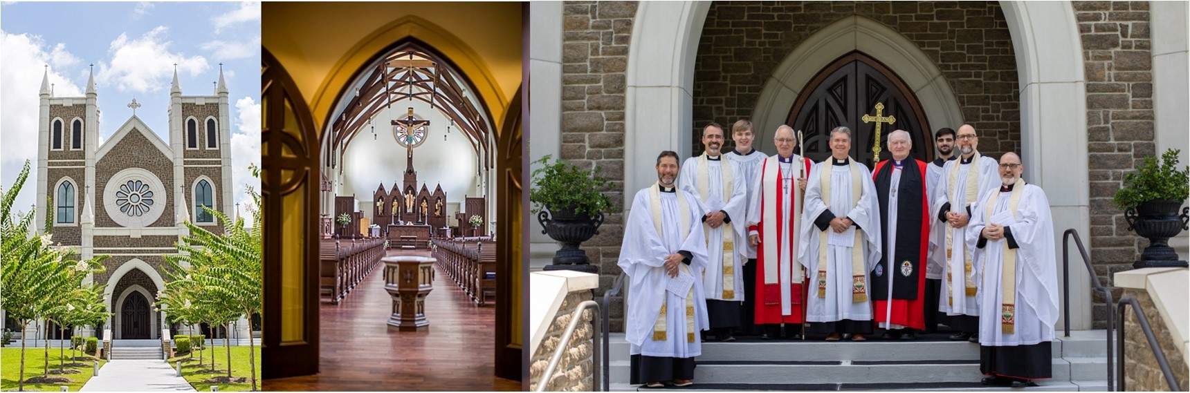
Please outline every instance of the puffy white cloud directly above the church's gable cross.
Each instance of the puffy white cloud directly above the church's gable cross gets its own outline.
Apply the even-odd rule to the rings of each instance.
[[[157,26],[133,39],[121,33],[107,50],[112,55],[111,63],[99,64],[96,81],[115,85],[120,91],[150,93],[169,88],[174,64],[178,72],[192,76],[209,69],[202,56],[171,52],[168,32],[165,26]]]

